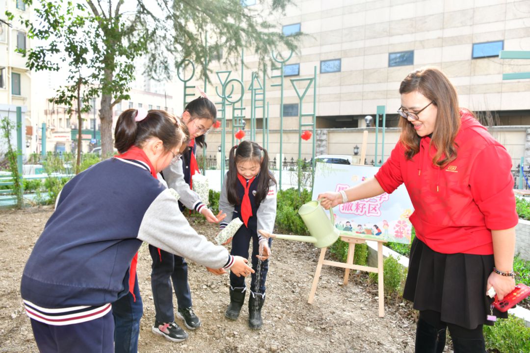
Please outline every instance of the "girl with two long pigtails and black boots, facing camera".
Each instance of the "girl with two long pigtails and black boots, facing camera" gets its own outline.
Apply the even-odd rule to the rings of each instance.
[[[252,275],[249,295],[251,329],[260,329],[263,324],[261,309],[265,300],[265,281],[272,243],[272,239],[262,237],[258,230],[271,233],[276,220],[276,180],[268,165],[267,150],[259,144],[243,141],[232,147],[229,153],[229,169],[219,198],[219,210],[227,214],[220,223],[220,228],[226,227],[235,218],[243,222],[234,237],[225,242],[227,244],[232,241],[231,255],[248,259],[252,239],[252,268],[255,273]],[[228,319],[237,319],[246,292],[245,278],[231,272],[230,304],[225,312]]]

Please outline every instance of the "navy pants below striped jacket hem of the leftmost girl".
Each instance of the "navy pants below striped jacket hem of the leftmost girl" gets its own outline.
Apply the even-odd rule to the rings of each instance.
[[[114,352],[112,312],[99,319],[64,326],[31,319],[31,328],[40,353]]]

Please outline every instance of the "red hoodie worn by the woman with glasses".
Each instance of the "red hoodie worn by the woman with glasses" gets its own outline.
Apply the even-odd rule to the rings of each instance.
[[[405,183],[414,212],[410,221],[419,240],[443,254],[491,255],[491,230],[518,222],[511,158],[473,115],[461,110],[457,157],[443,168],[432,164],[436,148],[423,137],[411,160],[396,144],[375,178],[387,193]]]

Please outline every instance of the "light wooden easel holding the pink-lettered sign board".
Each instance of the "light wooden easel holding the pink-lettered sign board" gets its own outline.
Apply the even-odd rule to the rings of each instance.
[[[364,163],[366,158],[366,145],[368,143],[368,131],[365,131],[363,134],[363,146],[361,147],[361,162]],[[326,250],[328,248],[322,248],[320,250],[319,262],[316,265],[315,276],[313,278],[313,284],[311,285],[311,292],[307,303],[312,304],[315,298],[316,286],[319,284],[320,271],[322,270],[322,265],[342,267],[345,268],[344,273],[344,284],[348,284],[350,269],[368,271],[368,272],[377,272],[377,283],[378,283],[378,296],[379,296],[379,317],[382,318],[385,316],[385,301],[384,301],[384,284],[383,284],[383,243],[386,243],[386,240],[375,240],[377,241],[377,267],[361,266],[354,265],[354,252],[356,244],[366,243],[365,238],[355,237],[355,236],[340,236],[340,239],[348,243],[348,257],[346,263],[339,263],[338,261],[324,260]]]

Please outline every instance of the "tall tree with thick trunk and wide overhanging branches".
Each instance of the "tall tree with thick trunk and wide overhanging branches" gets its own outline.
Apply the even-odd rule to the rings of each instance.
[[[23,2],[32,5],[32,0]],[[252,48],[263,64],[272,50],[296,49],[298,38],[284,36],[267,21],[270,13],[284,13],[292,0],[259,0],[266,11],[245,6],[242,0],[136,0],[131,9],[125,8],[124,0],[36,2],[36,20],[21,21],[30,37],[45,39],[48,44],[23,52],[30,69],[56,69],[53,58],[62,55],[58,48],[65,38],[59,32],[65,32],[72,22],[50,9],[72,9],[73,19],[95,25],[93,37],[83,47],[88,50],[91,75],[97,78],[101,93],[102,153],[112,151],[112,107],[129,99],[135,59],[147,57],[145,73],[158,80],[170,79],[184,59],[196,62],[200,75],[208,76],[205,59],[221,48],[226,64],[234,65],[243,47]]]

